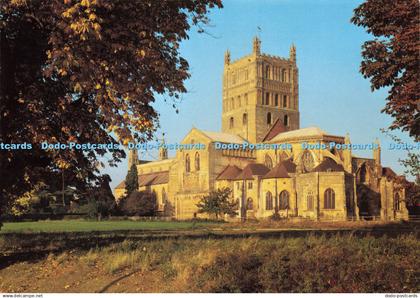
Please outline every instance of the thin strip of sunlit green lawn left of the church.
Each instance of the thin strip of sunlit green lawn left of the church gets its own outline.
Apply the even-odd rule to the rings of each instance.
[[[50,220],[4,223],[0,233],[179,230],[218,225],[214,222]]]

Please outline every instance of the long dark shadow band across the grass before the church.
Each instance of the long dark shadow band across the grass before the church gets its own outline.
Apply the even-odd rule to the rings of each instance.
[[[259,238],[302,238],[313,236],[346,236],[396,238],[399,235],[419,236],[420,223],[387,223],[363,228],[341,229],[288,229],[288,230],[180,230],[180,231],[112,231],[112,232],[66,232],[66,233],[6,233],[0,235],[0,270],[19,262],[35,263],[50,253],[69,250],[86,251],[129,241],[154,241],[167,239],[239,239]],[[106,289],[105,289],[106,290]]]

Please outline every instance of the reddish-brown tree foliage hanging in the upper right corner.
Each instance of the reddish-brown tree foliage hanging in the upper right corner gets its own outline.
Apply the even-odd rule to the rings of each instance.
[[[375,38],[362,46],[360,71],[373,90],[390,87],[382,110],[394,118],[390,129],[420,138],[420,81],[418,0],[366,0],[351,21]]]

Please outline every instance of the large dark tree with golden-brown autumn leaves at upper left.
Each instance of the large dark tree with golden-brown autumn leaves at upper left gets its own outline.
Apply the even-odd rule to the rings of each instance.
[[[42,180],[80,187],[98,156],[122,150],[42,150],[41,142],[144,142],[158,125],[156,94],[186,91],[179,54],[191,26],[221,0],[0,0],[0,212]]]

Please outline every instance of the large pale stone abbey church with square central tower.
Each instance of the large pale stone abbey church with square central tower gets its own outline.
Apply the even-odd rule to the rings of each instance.
[[[205,149],[182,149],[168,158],[162,148],[158,161],[139,160],[130,151],[129,167],[137,165],[139,190],[156,195],[163,216],[205,217],[196,204],[210,191],[228,187],[237,202],[236,219],[273,214],[313,220],[408,217],[404,189],[392,169],[382,165],[378,142],[372,158],[359,158],[350,149],[337,150],[351,147],[348,135],[300,128],[293,45],[288,58],[262,53],[258,38],[250,55],[233,61],[226,52],[222,104],[221,132],[192,128],[180,142],[204,144]],[[255,150],[243,148],[244,143],[267,146]],[[339,146],[331,148],[332,143]],[[117,199],[124,188],[124,181],[116,187]]]

